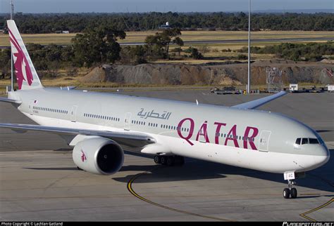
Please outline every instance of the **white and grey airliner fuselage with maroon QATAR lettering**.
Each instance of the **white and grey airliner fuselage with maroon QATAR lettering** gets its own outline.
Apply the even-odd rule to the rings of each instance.
[[[23,114],[43,126],[137,131],[156,140],[153,148],[137,152],[273,173],[309,171],[329,158],[322,141],[295,144],[297,138],[321,139],[315,131],[271,112],[56,88],[11,95],[22,100]]]

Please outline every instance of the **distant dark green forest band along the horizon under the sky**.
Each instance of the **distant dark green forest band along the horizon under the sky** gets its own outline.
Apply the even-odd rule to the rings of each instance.
[[[0,15],[0,29],[9,15]],[[68,30],[83,32],[86,27],[112,25],[123,31],[159,29],[169,22],[180,29],[247,30],[246,13],[16,13],[16,24],[26,34]],[[254,13],[252,29],[333,31],[334,13]]]

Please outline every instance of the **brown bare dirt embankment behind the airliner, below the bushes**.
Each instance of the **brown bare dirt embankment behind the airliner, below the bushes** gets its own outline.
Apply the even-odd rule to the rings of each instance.
[[[266,84],[266,68],[282,70],[284,83],[333,84],[334,65],[323,62],[258,61],[252,63],[252,84]],[[327,71],[327,72],[326,72]],[[95,67],[82,83],[111,81],[118,84],[242,85],[247,84],[247,63],[228,65],[104,65]]]

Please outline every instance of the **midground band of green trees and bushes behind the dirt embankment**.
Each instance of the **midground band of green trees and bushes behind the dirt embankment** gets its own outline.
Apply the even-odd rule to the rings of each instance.
[[[57,77],[59,69],[71,69],[73,75],[78,67],[94,67],[101,64],[122,63],[141,64],[159,59],[203,59],[202,53],[207,48],[197,49],[192,46],[181,48],[183,40],[179,28],[164,29],[149,35],[142,46],[124,46],[118,44],[118,39],[125,39],[126,33],[111,25],[87,27],[82,33],[76,34],[71,45],[59,46],[55,44],[42,46],[40,44],[27,44],[32,62],[44,77]],[[170,45],[173,49],[170,50]],[[231,50],[225,50],[230,52]],[[263,48],[252,46],[252,53],[274,54],[276,58],[288,60],[319,61],[323,55],[334,55],[334,41],[326,43],[291,44],[283,43]],[[183,52],[185,54],[180,55]],[[222,51],[224,52],[224,51]],[[247,53],[247,47],[236,51]],[[178,53],[178,55],[177,55]],[[237,55],[236,60],[246,60],[247,56]],[[0,51],[0,75],[10,74],[11,51]],[[70,74],[69,74],[70,75]]]

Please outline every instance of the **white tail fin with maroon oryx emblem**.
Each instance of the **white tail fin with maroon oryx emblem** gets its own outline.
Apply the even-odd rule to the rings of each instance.
[[[14,20],[7,20],[18,89],[43,88]]]

